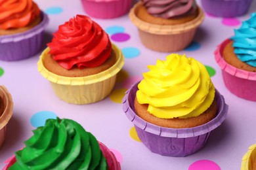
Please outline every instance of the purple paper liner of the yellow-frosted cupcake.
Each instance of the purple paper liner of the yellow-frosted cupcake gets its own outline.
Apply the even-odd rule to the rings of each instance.
[[[163,156],[188,156],[200,150],[207,140],[211,131],[226,118],[228,105],[224,102],[224,97],[217,90],[218,112],[217,116],[207,124],[190,128],[168,128],[150,124],[137,116],[134,109],[134,99],[138,90],[137,85],[133,85],[123,97],[123,111],[127,118],[133,122],[137,134],[146,147],[156,154]]]

